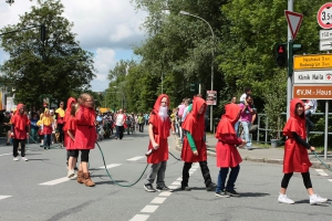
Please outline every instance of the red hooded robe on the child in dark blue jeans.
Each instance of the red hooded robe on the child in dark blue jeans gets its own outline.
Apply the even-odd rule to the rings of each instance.
[[[237,104],[227,104],[225,110],[216,130],[217,167],[237,167],[242,158],[235,145],[240,145],[242,140],[237,137],[234,126],[241,108]]]

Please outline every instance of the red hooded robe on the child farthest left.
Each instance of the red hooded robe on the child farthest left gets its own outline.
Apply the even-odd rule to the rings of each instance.
[[[20,108],[23,104],[18,104],[17,112],[11,118],[11,123],[14,125],[14,138],[15,139],[27,139],[27,126],[29,125],[29,119],[25,114],[20,114]]]

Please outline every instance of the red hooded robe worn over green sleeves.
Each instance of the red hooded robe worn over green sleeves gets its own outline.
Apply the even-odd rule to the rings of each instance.
[[[200,107],[204,106],[201,114],[198,114]],[[184,138],[181,159],[185,162],[197,162],[207,160],[206,144],[204,140],[205,120],[204,114],[206,112],[206,103],[200,97],[195,97],[193,101],[193,110],[187,114],[185,122],[183,123],[183,129],[189,131],[195,140],[195,145],[198,151],[198,156],[195,156],[187,137]]]

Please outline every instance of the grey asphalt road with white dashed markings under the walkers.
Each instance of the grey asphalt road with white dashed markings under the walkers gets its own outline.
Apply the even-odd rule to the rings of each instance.
[[[123,140],[100,143],[110,173],[121,185],[136,181],[146,167],[147,133],[125,135]],[[175,150],[169,138],[170,152]],[[65,150],[51,150],[29,145],[29,161],[13,161],[12,147],[0,146],[0,220],[118,220],[118,221],[191,221],[191,220],[331,220],[331,200],[322,206],[310,206],[301,175],[290,181],[288,196],[295,204],[278,203],[282,166],[243,161],[236,183],[239,198],[217,198],[205,190],[198,165],[190,170],[191,191],[146,192],[144,179],[134,187],[118,187],[108,178],[102,156],[96,148],[91,151],[90,168],[93,188],[65,179]],[[215,158],[208,159],[210,173],[216,181],[218,168]],[[183,162],[169,156],[166,185],[179,188]],[[322,197],[332,199],[328,176],[311,169],[313,188]]]

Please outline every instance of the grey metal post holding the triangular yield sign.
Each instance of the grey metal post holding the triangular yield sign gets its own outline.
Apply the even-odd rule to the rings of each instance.
[[[288,11],[293,11],[293,0],[288,0]],[[287,39],[288,39],[288,78],[287,78],[287,119],[290,117],[289,109],[290,109],[290,102],[292,99],[292,77],[290,73],[292,74],[292,35],[289,25],[287,31]]]

